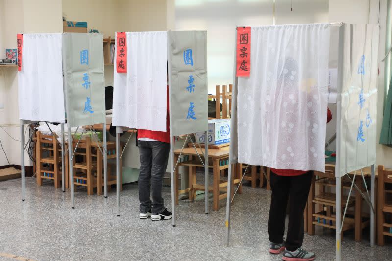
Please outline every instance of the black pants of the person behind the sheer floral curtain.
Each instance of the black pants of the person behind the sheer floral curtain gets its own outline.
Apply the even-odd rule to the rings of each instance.
[[[295,251],[303,242],[303,211],[313,171],[295,177],[284,177],[271,172],[272,189],[268,234],[271,242],[280,244],[285,233],[286,208],[290,197],[289,227],[287,229],[286,249]]]

